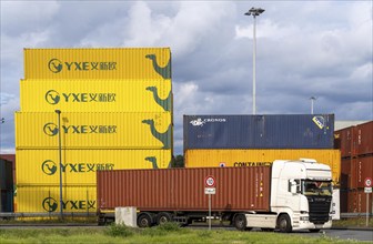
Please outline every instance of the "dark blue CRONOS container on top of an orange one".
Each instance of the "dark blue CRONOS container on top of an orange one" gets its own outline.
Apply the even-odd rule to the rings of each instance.
[[[184,115],[189,149],[333,149],[334,114]]]

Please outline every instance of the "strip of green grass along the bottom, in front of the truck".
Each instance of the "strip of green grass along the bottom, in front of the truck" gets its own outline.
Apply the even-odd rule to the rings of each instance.
[[[191,230],[175,224],[152,228],[131,228],[123,225],[107,227],[59,227],[0,230],[0,243],[357,243],[331,238],[324,234],[306,237],[295,234],[238,232],[224,230]]]

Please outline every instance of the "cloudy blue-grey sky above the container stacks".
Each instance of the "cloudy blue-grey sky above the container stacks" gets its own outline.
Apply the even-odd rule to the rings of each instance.
[[[183,114],[373,120],[372,1],[0,1],[0,153],[14,153],[24,48],[170,47],[174,154]]]

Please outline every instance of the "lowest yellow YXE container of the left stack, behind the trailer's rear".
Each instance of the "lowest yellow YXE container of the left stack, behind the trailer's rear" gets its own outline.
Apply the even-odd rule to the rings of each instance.
[[[14,212],[59,213],[60,187],[54,185],[22,185],[17,187]],[[95,185],[74,185],[62,187],[63,213],[95,213]]]

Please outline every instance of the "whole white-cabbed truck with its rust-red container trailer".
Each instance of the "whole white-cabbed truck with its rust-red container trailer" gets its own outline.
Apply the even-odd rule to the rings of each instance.
[[[139,227],[219,218],[240,231],[319,232],[332,226],[332,191],[330,166],[310,159],[251,167],[97,172],[99,224],[113,221],[115,207],[134,206]]]

